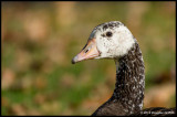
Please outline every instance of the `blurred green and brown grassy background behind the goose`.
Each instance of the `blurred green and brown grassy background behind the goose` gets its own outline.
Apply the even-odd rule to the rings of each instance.
[[[110,60],[71,64],[96,25],[121,21],[145,62],[144,108],[176,106],[175,2],[2,2],[1,114],[91,115],[114,89]]]

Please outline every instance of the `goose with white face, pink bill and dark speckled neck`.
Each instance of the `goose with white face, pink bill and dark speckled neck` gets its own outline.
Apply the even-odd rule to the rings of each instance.
[[[72,64],[94,59],[114,60],[116,83],[110,99],[101,105],[92,116],[146,114],[143,113],[145,89],[143,54],[137,40],[124,23],[110,21],[95,26],[86,45],[72,59]],[[147,110],[150,108],[145,109]],[[176,108],[173,109],[173,113],[176,113]]]

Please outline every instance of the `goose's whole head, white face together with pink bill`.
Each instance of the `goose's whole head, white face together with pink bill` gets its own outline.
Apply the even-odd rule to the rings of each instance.
[[[105,22],[92,31],[86,45],[72,63],[92,59],[117,59],[136,42],[131,31],[119,21]]]

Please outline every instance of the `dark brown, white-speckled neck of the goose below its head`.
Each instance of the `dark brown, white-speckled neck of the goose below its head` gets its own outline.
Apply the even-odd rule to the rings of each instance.
[[[129,114],[139,111],[144,99],[145,67],[137,42],[126,55],[115,59],[115,64],[116,84],[111,99],[121,103]]]

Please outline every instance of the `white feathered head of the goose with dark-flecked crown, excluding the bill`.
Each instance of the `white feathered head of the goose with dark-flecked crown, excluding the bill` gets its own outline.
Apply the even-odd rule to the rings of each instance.
[[[105,22],[92,31],[91,39],[96,39],[97,50],[102,53],[96,59],[123,56],[135,43],[131,31],[119,21]]]

